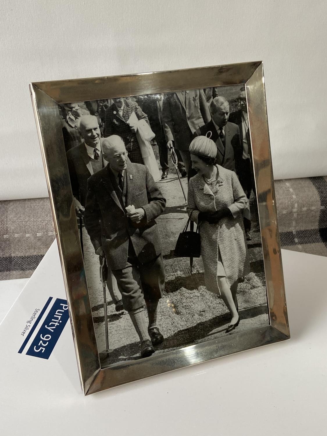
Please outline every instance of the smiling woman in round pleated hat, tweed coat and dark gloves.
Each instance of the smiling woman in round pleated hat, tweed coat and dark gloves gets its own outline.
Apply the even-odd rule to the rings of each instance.
[[[187,213],[199,225],[206,287],[221,295],[232,315],[228,333],[240,321],[238,279],[250,272],[242,213],[247,198],[236,174],[214,164],[217,147],[212,140],[198,136],[189,150],[198,174],[188,184]]]

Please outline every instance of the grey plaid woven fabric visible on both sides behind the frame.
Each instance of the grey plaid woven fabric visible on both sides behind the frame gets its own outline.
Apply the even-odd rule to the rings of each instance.
[[[275,192],[282,248],[327,256],[327,177],[277,180]],[[30,277],[54,238],[48,198],[0,201],[0,279]]]

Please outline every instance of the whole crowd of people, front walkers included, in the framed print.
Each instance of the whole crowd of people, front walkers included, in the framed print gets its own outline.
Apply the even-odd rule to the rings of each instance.
[[[129,313],[141,357],[164,341],[157,308],[165,286],[155,219],[166,199],[144,138],[158,146],[162,180],[174,147],[181,176],[188,179],[187,213],[199,227],[206,287],[231,313],[226,332],[240,322],[236,292],[249,272],[249,198],[255,194],[249,122],[245,89],[231,116],[218,92],[195,89],[60,108],[75,212],[84,219],[95,255],[106,258],[110,296],[117,311]]]

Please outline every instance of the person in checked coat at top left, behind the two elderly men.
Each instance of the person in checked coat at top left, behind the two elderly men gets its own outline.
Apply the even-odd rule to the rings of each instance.
[[[145,119],[147,123],[149,123],[148,117],[136,102],[124,98],[113,99],[113,101],[106,110],[104,136],[119,135],[125,143],[129,160],[136,164],[143,164],[136,129],[129,126],[127,121],[133,112],[137,119]]]

